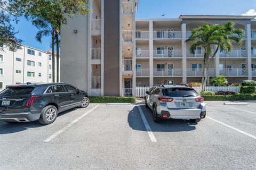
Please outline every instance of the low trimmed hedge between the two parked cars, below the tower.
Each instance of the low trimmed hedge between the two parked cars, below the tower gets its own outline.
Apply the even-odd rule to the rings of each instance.
[[[135,97],[89,97],[90,103],[136,103]]]

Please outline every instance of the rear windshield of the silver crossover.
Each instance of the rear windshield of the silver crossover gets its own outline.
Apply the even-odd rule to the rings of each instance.
[[[197,92],[194,89],[189,88],[171,88],[164,89],[165,96],[170,97],[196,97],[198,96]]]

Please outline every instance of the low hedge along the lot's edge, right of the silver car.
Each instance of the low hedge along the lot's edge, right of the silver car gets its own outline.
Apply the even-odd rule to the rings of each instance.
[[[225,100],[256,100],[256,94],[239,94],[239,95],[204,95],[205,101],[225,101]]]

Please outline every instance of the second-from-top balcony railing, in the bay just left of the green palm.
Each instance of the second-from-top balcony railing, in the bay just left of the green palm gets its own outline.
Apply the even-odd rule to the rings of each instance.
[[[172,58],[182,57],[182,50],[180,49],[165,49],[165,50],[154,50],[154,58]]]

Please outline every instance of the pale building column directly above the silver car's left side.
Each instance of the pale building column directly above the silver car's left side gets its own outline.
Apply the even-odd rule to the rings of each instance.
[[[154,86],[153,20],[149,20],[149,86]]]

